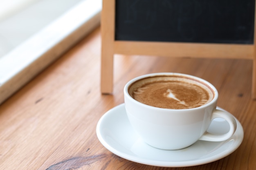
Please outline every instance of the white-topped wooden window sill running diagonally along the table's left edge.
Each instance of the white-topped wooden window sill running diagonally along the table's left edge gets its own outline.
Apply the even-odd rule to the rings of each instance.
[[[84,0],[0,57],[0,104],[100,24],[101,0]]]

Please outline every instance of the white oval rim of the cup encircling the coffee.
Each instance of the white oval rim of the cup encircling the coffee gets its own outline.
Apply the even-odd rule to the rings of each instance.
[[[159,75],[179,75],[179,76],[182,76],[182,77],[190,77],[192,79],[196,79],[197,81],[199,82],[203,82],[204,84],[206,84],[207,86],[209,86],[211,88],[211,90],[213,91],[214,93],[214,96],[213,96],[213,99],[211,100],[211,102],[207,103],[207,104],[204,104],[202,106],[199,106],[199,107],[195,107],[195,108],[183,108],[183,109],[171,109],[171,108],[158,108],[158,107],[155,107],[155,106],[150,106],[150,105],[147,105],[147,104],[143,104],[141,102],[138,102],[137,100],[135,100],[134,98],[132,98],[130,96],[130,94],[128,93],[128,88],[130,87],[130,85],[134,82],[136,82],[137,80],[139,79],[143,79],[143,78],[146,78],[146,77],[155,77],[155,76],[159,76]],[[152,108],[152,109],[160,109],[160,110],[196,110],[196,109],[199,109],[199,108],[205,108],[205,107],[208,107],[209,105],[213,104],[214,102],[217,101],[218,99],[218,91],[217,89],[215,88],[215,86],[213,86],[210,82],[208,82],[207,80],[205,79],[202,79],[200,77],[196,77],[194,75],[189,75],[189,74],[184,74],[184,73],[171,73],[171,72],[162,72],[162,73],[149,73],[149,74],[145,74],[145,75],[140,75],[138,77],[135,77],[133,79],[131,79],[130,81],[128,81],[126,83],[126,85],[124,86],[124,95],[127,96],[129,99],[131,99],[133,102],[137,103],[137,104],[141,104],[142,106],[145,106],[145,107],[148,107],[148,108]]]

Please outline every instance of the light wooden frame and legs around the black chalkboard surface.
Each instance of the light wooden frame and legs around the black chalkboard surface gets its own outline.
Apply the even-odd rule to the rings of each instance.
[[[256,23],[256,17],[254,20]],[[101,93],[103,94],[111,94],[113,90],[114,54],[253,60],[252,98],[256,99],[256,26],[254,26],[254,44],[115,40],[115,0],[103,0],[101,11]]]

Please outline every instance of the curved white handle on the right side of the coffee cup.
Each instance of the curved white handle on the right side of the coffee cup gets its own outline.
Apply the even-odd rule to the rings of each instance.
[[[205,132],[204,135],[202,135],[199,140],[225,141],[225,140],[229,139],[234,134],[234,132],[236,131],[236,120],[230,113],[227,113],[223,110],[215,109],[213,111],[211,121],[215,118],[225,119],[228,122],[229,127],[230,127],[229,132],[227,132],[226,134],[223,134],[223,135],[214,135],[212,133]]]

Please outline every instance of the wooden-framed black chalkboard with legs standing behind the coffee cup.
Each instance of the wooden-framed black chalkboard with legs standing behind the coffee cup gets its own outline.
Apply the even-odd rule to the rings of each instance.
[[[255,0],[103,0],[101,93],[111,94],[114,55],[253,60]]]

